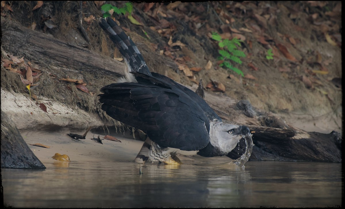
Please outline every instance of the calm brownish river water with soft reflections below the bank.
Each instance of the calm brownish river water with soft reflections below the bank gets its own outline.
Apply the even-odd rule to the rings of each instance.
[[[341,207],[342,165],[248,161],[245,167],[185,161],[45,163],[1,169],[5,206]]]

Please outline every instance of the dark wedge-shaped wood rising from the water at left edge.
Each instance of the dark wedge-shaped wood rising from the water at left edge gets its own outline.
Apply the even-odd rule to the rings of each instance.
[[[2,111],[1,168],[46,168],[24,142],[13,121]]]

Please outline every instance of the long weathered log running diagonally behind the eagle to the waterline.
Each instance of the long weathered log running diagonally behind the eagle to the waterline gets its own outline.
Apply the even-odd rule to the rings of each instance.
[[[3,18],[1,26],[2,46],[13,54],[26,54],[30,60],[44,61],[52,66],[123,75],[122,63],[96,52],[47,37]],[[205,100],[224,121],[247,125],[255,132],[250,160],[341,162],[342,138],[337,132],[305,132],[286,124],[276,114],[254,108],[248,101],[236,101],[224,95],[205,92]]]

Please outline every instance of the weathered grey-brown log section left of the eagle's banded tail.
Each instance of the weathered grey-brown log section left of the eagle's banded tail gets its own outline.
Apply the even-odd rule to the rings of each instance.
[[[80,69],[89,72],[104,71],[123,75],[124,64],[88,49],[71,45],[32,31],[18,23],[1,18],[1,42],[4,50],[25,54],[27,60],[36,60],[50,66]]]

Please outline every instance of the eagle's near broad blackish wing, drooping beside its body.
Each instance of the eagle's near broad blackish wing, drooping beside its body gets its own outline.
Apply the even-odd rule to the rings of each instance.
[[[99,95],[102,109],[112,118],[142,130],[160,146],[204,148],[209,143],[209,122],[203,109],[183,91],[159,82],[107,85]]]

